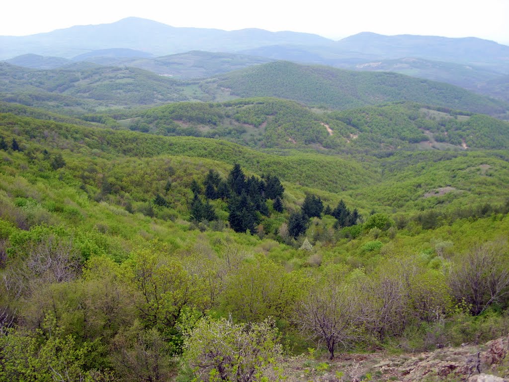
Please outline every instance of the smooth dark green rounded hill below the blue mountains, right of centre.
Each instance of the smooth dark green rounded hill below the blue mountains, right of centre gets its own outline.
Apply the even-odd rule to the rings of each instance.
[[[355,72],[274,62],[218,76],[211,86],[240,97],[279,97],[336,109],[413,101],[476,113],[505,115],[507,104],[467,90],[396,73]]]

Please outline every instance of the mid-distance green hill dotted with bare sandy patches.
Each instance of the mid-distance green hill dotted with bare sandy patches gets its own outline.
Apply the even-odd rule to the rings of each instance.
[[[277,98],[245,98],[222,103],[176,102],[131,117],[120,120],[120,125],[158,135],[226,139],[259,148],[370,153],[509,148],[507,122],[408,102],[331,113]]]

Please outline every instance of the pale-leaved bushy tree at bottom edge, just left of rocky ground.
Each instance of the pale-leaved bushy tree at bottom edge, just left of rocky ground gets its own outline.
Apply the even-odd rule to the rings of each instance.
[[[205,318],[186,338],[183,359],[196,381],[276,381],[275,360],[281,355],[277,340],[272,319],[234,324]]]

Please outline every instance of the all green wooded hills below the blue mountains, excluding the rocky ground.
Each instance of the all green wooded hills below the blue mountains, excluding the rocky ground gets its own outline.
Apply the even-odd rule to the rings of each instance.
[[[503,101],[288,62],[0,79],[0,382],[319,381],[509,332]]]

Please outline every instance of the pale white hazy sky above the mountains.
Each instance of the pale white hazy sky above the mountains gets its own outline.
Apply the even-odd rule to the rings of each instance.
[[[509,0],[108,0],[6,1],[0,35],[21,36],[136,16],[173,26],[316,33],[340,39],[369,31],[480,37],[509,44]]]

